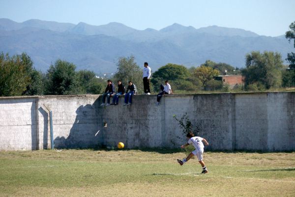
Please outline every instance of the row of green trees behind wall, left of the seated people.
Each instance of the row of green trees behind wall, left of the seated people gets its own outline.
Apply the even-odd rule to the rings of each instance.
[[[89,70],[57,60],[46,73],[36,70],[26,53],[0,54],[0,96],[100,94],[103,81]]]

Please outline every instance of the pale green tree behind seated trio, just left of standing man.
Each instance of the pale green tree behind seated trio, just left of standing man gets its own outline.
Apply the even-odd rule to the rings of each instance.
[[[132,81],[137,87],[137,92],[142,94],[144,90],[143,71],[134,60],[134,56],[118,58],[118,71],[115,73],[114,78],[121,80],[126,87],[128,82]]]

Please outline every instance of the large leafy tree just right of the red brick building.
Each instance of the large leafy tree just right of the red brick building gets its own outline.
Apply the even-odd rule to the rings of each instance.
[[[253,51],[246,55],[246,68],[242,70],[245,76],[246,88],[250,84],[259,84],[258,87],[278,88],[282,84],[283,61],[279,53],[260,53]],[[258,83],[260,82],[260,83]],[[263,89],[263,88],[261,88]]]

